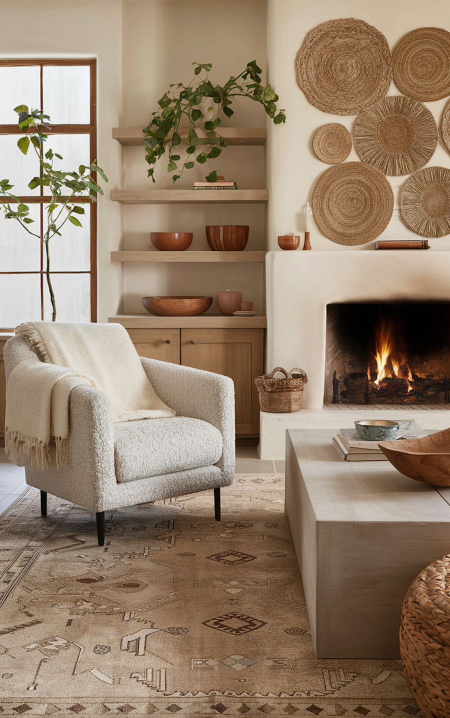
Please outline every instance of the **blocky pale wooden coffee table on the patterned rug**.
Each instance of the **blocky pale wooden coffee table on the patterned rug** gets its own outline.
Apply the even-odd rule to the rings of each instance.
[[[317,658],[400,658],[406,590],[450,553],[450,488],[343,462],[335,431],[286,432],[286,513]]]

